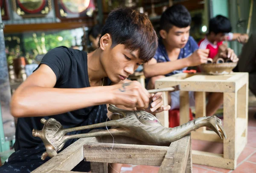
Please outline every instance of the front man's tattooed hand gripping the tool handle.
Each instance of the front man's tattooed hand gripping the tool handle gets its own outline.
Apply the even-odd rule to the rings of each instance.
[[[148,108],[151,95],[140,82],[131,81],[112,86],[113,97],[111,104],[124,105],[127,108]]]

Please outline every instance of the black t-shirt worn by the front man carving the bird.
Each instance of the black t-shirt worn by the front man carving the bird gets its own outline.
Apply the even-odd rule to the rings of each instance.
[[[54,88],[90,87],[87,72],[87,53],[84,51],[64,46],[57,47],[49,51],[43,57],[40,64],[48,65],[55,73],[57,82]],[[111,83],[109,79],[105,81],[105,85]],[[67,102],[69,102],[69,100],[67,100]],[[15,150],[35,147],[42,143],[42,140],[39,137],[32,136],[33,129],[41,130],[43,128],[44,124],[40,122],[41,118],[54,118],[60,122],[64,128],[73,128],[105,122],[107,119],[107,108],[106,105],[97,105],[52,116],[18,118],[14,145]],[[92,129],[75,131],[67,134],[87,133],[90,130]],[[63,149],[76,140],[77,139],[71,139],[67,141]]]

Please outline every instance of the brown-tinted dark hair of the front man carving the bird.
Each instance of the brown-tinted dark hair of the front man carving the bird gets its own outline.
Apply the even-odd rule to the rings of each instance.
[[[119,8],[110,12],[102,28],[101,37],[110,34],[111,48],[118,44],[126,49],[139,49],[139,58],[145,62],[151,60],[157,50],[157,34],[145,14],[130,8]]]

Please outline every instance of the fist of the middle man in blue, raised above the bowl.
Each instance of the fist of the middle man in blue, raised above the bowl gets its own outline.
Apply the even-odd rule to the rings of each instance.
[[[197,66],[206,63],[208,56],[209,49],[196,50],[190,57],[188,57],[189,66]]]

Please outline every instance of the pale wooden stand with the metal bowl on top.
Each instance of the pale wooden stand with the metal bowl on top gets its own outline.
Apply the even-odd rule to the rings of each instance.
[[[192,150],[192,158],[193,163],[196,164],[235,169],[237,158],[247,143],[248,73],[218,76],[181,73],[158,79],[155,88],[167,88],[175,85],[180,85],[180,124],[189,121],[188,91],[195,91],[196,118],[206,116],[205,92],[224,93],[223,121],[227,139],[221,140],[215,132],[206,130],[206,128],[200,128],[191,133],[192,139],[223,142],[224,154]],[[163,122],[161,123],[163,124]]]

